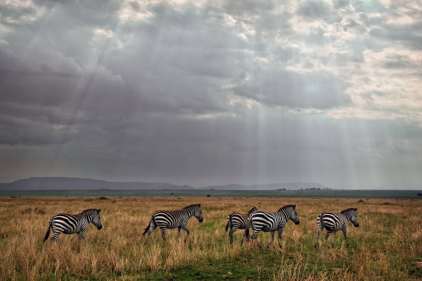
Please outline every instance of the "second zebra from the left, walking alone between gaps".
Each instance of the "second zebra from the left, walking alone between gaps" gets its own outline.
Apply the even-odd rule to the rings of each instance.
[[[165,229],[174,229],[176,227],[178,238],[180,237],[181,229],[185,230],[186,233],[188,233],[185,238],[186,242],[189,236],[189,230],[186,225],[188,225],[188,220],[192,218],[192,216],[197,218],[199,222],[203,221],[201,204],[189,205],[177,211],[156,211],[151,216],[150,224],[148,225],[148,227],[145,228],[145,231],[143,231],[142,233],[142,235],[145,235],[145,233],[148,232],[144,244],[146,245],[152,231],[154,231],[154,229],[156,229],[157,227],[161,229],[161,236],[163,237],[165,243],[167,243],[167,241],[165,240]]]

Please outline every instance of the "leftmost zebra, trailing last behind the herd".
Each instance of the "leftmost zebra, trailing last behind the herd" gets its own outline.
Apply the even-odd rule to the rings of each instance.
[[[81,214],[70,215],[70,214],[57,214],[50,219],[46,236],[44,237],[43,242],[46,242],[48,236],[50,236],[50,229],[53,230],[53,236],[50,238],[51,242],[56,241],[59,244],[59,235],[63,232],[65,234],[78,233],[78,241],[85,239],[83,233],[85,233],[86,228],[92,222],[97,229],[101,229],[101,219],[99,212],[101,209],[87,209],[82,211]]]

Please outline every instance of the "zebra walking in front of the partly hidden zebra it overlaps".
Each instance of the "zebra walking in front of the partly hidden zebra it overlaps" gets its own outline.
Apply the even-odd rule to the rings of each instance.
[[[271,242],[274,241],[274,232],[279,231],[279,247],[281,248],[280,239],[283,228],[288,220],[292,220],[296,225],[299,225],[299,218],[297,217],[296,205],[287,205],[281,207],[277,212],[256,211],[250,217],[250,224],[254,233],[252,234],[252,241],[257,239],[259,231],[271,232]],[[268,246],[270,246],[268,244]],[[258,246],[259,245],[258,242]]]

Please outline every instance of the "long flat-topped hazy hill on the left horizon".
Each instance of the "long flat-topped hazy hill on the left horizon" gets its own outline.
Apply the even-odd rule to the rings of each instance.
[[[13,183],[0,183],[0,190],[75,190],[75,189],[193,189],[171,183],[119,183],[89,178],[26,178]]]

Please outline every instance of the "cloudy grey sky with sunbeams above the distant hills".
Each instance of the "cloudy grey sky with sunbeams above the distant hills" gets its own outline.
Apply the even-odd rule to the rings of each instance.
[[[420,1],[0,2],[0,182],[422,189]]]

